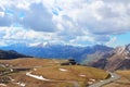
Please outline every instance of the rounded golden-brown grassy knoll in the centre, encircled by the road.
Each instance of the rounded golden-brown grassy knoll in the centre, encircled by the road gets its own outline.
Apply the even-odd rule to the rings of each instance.
[[[66,72],[60,71],[60,69],[67,70]],[[34,72],[37,75],[43,75],[50,79],[62,79],[62,80],[84,80],[88,78],[94,79],[104,79],[107,77],[107,73],[102,70],[79,66],[79,65],[70,65],[70,66],[47,66],[41,67]],[[86,77],[81,77],[80,75],[86,75]]]

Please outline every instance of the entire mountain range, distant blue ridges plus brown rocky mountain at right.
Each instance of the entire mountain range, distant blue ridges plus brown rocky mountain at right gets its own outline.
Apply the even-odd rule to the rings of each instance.
[[[102,45],[75,47],[51,44],[38,44],[31,46],[18,44],[0,47],[0,49],[20,52],[4,51],[6,58],[9,57],[8,59],[22,58],[22,54],[26,54],[35,58],[75,59],[79,63],[107,71],[130,69],[130,45],[112,48]],[[0,51],[0,55],[3,53],[3,50]],[[14,57],[10,54],[14,54]]]

